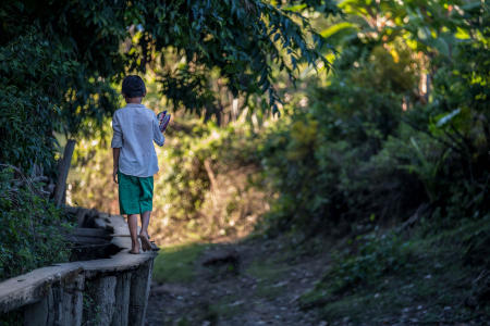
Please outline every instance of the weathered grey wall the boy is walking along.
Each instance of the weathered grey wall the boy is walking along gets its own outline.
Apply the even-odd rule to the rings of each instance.
[[[0,283],[0,312],[21,310],[24,325],[144,325],[156,251],[130,254],[122,216],[103,214],[122,248],[109,259],[63,263]]]

